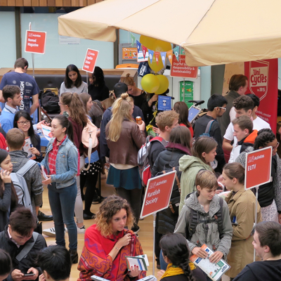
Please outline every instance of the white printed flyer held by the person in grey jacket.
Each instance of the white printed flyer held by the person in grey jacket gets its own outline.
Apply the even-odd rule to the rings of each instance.
[[[211,256],[211,254],[214,254],[214,251],[211,251],[211,249],[207,247],[206,244],[204,244],[201,248],[204,249],[204,251],[207,251],[208,258],[202,259],[198,256],[192,255],[190,256],[190,261],[192,261],[195,266],[201,268],[204,273],[206,273],[207,276],[211,278],[211,280],[219,280],[221,276],[230,268],[230,265],[226,263],[226,261],[223,261],[223,259],[218,261],[218,263],[211,263],[209,261],[209,256]]]

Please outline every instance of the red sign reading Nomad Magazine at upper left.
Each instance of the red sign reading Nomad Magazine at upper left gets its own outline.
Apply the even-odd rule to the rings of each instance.
[[[27,30],[25,35],[25,52],[45,53],[47,32]]]

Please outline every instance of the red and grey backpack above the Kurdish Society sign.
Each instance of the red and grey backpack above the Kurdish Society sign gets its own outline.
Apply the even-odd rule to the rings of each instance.
[[[150,148],[152,141],[159,141],[162,143],[164,147],[166,147],[166,141],[164,138],[159,136],[148,136],[146,138],[145,144],[142,145],[141,149],[138,150],[138,172],[141,176],[141,183],[145,187],[148,184],[148,180],[151,178],[151,171],[150,171],[150,162],[149,162],[149,155],[150,155]]]

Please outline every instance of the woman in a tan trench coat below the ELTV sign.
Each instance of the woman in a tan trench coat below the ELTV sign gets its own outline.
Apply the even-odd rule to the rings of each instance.
[[[245,169],[239,163],[228,163],[223,167],[223,185],[231,190],[226,202],[233,227],[233,238],[228,254],[231,266],[226,275],[233,280],[248,264],[254,261],[252,230],[255,223],[256,197],[251,190],[244,189]],[[257,221],[261,221],[261,207],[257,206]]]

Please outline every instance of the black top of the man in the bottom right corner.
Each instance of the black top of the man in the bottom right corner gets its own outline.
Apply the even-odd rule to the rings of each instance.
[[[281,259],[249,263],[233,281],[275,281],[281,279]]]

